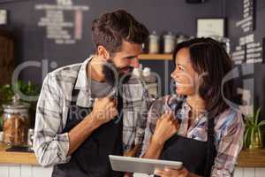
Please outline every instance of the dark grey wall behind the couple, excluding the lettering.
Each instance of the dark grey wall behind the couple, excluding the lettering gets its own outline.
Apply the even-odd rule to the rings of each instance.
[[[38,27],[38,22],[45,15],[42,11],[36,11],[36,4],[56,4],[56,0],[14,0],[11,3],[0,3],[0,8],[9,10],[10,25],[9,28],[14,31],[16,37],[16,64],[34,60],[42,62],[47,68],[42,70],[37,67],[27,67],[21,73],[23,79],[42,83],[45,76],[45,70],[52,71],[62,65],[70,65],[82,62],[87,56],[94,53],[91,42],[91,22],[100,13],[112,11],[117,8],[123,8],[131,12],[133,16],[144,23],[150,31],[173,31],[184,33],[186,35],[196,34],[195,19],[198,17],[226,17],[228,19],[228,37],[231,38],[232,50],[237,45],[239,36],[242,35],[239,27],[235,23],[242,18],[243,0],[208,0],[205,4],[186,4],[185,0],[112,0],[112,1],[89,1],[79,0],[74,4],[87,5],[89,10],[83,13],[83,32],[82,38],[75,44],[55,44],[54,40],[47,39],[45,27]],[[265,36],[265,1],[256,0],[256,27],[254,37],[256,42],[262,42]],[[71,15],[65,15],[65,20],[71,20]],[[47,62],[47,63],[45,63]],[[56,62],[57,65],[53,65]],[[163,80],[163,94],[169,93],[170,72],[165,70],[165,66],[172,71],[173,65],[163,61],[142,61],[144,65],[149,65],[159,73]],[[161,66],[163,65],[163,67]],[[254,66],[254,102],[255,107],[263,105],[262,114],[265,115],[265,96],[263,88],[265,87],[264,64],[249,65]],[[253,77],[253,76],[251,76]]]

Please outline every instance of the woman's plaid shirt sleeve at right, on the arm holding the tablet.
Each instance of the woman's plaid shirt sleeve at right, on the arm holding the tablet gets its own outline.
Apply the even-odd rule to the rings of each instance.
[[[218,131],[219,134],[217,134],[221,140],[217,146],[211,177],[231,177],[239,152],[243,147],[245,126],[241,113],[230,112],[226,118],[221,119],[223,119],[223,124],[219,124],[216,128],[223,129],[223,131]]]

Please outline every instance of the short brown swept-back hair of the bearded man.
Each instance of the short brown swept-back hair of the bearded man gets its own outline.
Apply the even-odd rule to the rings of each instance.
[[[120,50],[123,40],[143,43],[148,39],[148,29],[124,10],[102,14],[92,23],[95,48],[104,46],[110,54]]]

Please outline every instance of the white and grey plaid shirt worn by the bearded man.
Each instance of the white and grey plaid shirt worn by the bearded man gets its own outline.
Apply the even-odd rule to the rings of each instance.
[[[87,81],[86,66],[67,65],[49,73],[43,81],[41,95],[36,108],[34,127],[34,152],[41,165],[67,163],[69,150],[68,133],[63,133],[74,89],[79,89],[77,105],[92,107],[91,90]],[[123,85],[123,142],[124,149],[141,144],[148,111],[147,89],[141,82],[129,81]]]

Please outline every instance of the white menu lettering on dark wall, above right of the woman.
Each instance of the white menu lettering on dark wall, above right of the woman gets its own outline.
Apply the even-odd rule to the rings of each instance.
[[[238,38],[238,43],[233,50],[231,57],[235,64],[260,63],[262,62],[262,43],[255,42],[255,0],[241,0],[242,19],[235,23],[240,28],[242,35]],[[240,6],[239,6],[240,7]]]

